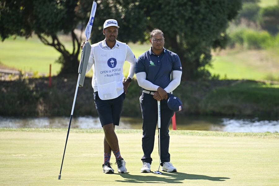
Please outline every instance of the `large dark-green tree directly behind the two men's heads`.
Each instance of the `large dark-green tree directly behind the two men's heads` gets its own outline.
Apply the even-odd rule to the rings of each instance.
[[[98,16],[120,20],[118,38],[122,42],[145,42],[149,32],[159,28],[166,38],[165,47],[177,53],[183,66],[182,79],[206,78],[210,73],[211,50],[224,48],[226,29],[236,18],[241,0],[108,0],[97,1]],[[108,16],[108,10],[113,12]],[[102,24],[96,16],[92,43],[101,37]],[[94,19],[95,21],[95,19]]]

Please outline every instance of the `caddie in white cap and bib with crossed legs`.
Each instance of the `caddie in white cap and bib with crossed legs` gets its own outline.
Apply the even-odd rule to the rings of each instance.
[[[117,164],[117,172],[125,173],[126,162],[120,154],[117,135],[114,132],[123,108],[125,94],[135,74],[136,58],[131,48],[116,40],[118,35],[116,20],[109,19],[104,22],[103,33],[105,39],[91,45],[91,53],[86,73],[93,69],[92,87],[94,101],[101,125],[104,129],[104,163],[103,172],[114,173],[110,163],[111,151]],[[83,47],[85,42],[82,43]],[[123,64],[130,63],[128,77],[124,80]]]

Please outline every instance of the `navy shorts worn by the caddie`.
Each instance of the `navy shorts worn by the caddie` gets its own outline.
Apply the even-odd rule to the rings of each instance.
[[[126,94],[123,92],[117,98],[111,100],[101,100],[98,92],[94,92],[94,101],[102,127],[110,123],[117,126],[119,125],[125,97]]]

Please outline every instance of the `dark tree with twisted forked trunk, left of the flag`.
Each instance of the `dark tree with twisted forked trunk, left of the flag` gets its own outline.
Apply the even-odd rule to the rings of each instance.
[[[60,73],[76,72],[81,37],[74,33],[78,24],[84,25],[86,16],[81,14],[78,0],[12,0],[0,2],[0,37],[29,38],[35,33],[40,40],[61,53],[65,65]],[[71,34],[73,50],[68,51],[60,42],[58,33]],[[65,66],[64,65],[64,66]]]

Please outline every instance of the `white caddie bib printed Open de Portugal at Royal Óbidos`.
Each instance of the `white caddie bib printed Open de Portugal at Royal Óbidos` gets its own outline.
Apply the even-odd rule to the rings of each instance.
[[[126,59],[126,43],[117,44],[119,46],[112,50],[104,50],[97,44],[93,45],[94,73],[101,100],[117,98],[124,92],[123,65]]]

